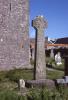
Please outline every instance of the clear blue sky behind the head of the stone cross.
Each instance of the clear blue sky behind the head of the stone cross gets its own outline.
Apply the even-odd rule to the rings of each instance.
[[[30,37],[35,37],[32,20],[43,15],[48,22],[44,35],[49,38],[68,37],[68,0],[29,0]]]

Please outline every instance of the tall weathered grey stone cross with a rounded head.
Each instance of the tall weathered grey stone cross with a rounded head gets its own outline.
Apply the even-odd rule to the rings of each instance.
[[[47,27],[47,22],[44,20],[43,16],[37,16],[32,21],[32,26],[36,30],[34,79],[45,79],[46,62],[44,29]]]

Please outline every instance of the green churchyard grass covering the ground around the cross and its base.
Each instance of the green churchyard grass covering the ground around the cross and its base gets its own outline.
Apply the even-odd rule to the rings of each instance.
[[[56,79],[64,75],[63,71],[47,70],[47,78]],[[18,80],[33,79],[33,69],[14,69],[0,72],[0,100],[67,100],[68,89],[49,90],[47,88],[30,88],[25,96],[20,94]],[[63,95],[64,94],[64,95]]]

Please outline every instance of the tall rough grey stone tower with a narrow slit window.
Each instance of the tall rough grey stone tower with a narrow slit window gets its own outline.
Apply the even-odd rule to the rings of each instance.
[[[0,0],[0,70],[29,68],[29,0]]]

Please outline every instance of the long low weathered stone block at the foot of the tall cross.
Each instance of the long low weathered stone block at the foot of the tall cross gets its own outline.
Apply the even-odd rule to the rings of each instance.
[[[54,88],[55,82],[50,79],[40,79],[40,80],[27,80],[25,81],[26,87],[48,87]]]

